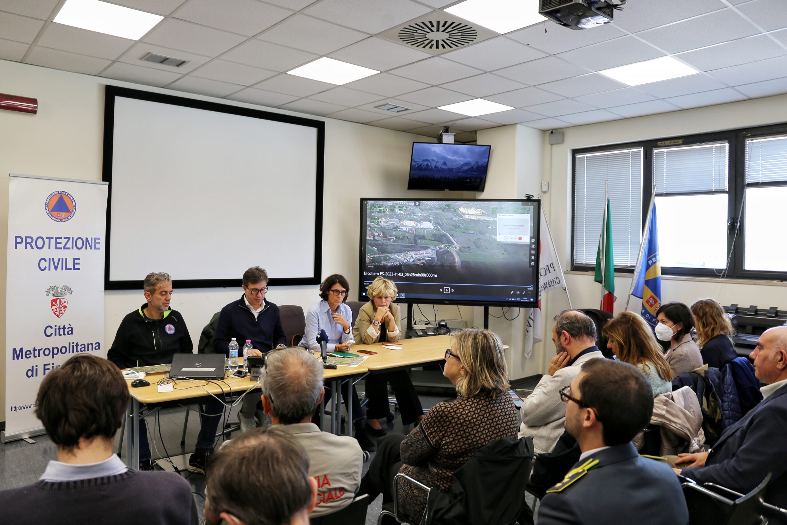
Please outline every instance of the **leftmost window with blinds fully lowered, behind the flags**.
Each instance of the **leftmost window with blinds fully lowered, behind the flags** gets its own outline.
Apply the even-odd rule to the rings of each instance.
[[[575,155],[574,264],[596,264],[604,216],[604,183],[611,205],[615,266],[637,264],[642,216],[643,149]]]

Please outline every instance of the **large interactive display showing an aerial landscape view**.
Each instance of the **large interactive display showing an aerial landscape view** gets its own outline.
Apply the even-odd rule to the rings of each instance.
[[[538,303],[538,200],[360,201],[360,300],[382,275],[400,302]]]

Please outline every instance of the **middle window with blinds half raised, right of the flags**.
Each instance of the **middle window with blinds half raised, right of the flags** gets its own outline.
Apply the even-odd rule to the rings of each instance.
[[[726,268],[729,158],[728,142],[653,150],[662,268]],[[687,224],[702,235],[686,242]]]

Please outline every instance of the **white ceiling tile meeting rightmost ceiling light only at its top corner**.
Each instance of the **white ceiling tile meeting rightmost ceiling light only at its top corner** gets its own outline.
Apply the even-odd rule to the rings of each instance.
[[[663,28],[637,33],[637,36],[667,53],[695,50],[730,40],[756,35],[757,29],[732,9],[722,9]]]

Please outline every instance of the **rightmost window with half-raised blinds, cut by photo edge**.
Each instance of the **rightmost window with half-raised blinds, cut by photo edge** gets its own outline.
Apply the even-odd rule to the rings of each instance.
[[[744,268],[787,272],[787,246],[774,242],[787,202],[787,136],[746,140]]]

